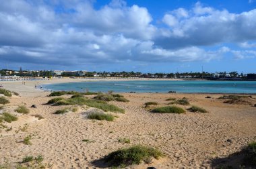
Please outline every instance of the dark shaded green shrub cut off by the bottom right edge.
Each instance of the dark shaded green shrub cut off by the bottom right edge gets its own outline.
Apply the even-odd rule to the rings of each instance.
[[[245,162],[251,164],[252,166],[256,166],[256,142],[248,144],[244,151]]]

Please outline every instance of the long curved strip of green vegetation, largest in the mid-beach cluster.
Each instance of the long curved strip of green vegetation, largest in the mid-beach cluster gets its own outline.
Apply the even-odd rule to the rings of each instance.
[[[63,99],[61,101],[57,101],[54,105],[87,105],[89,107],[95,107],[98,109],[102,109],[103,111],[113,111],[119,113],[125,113],[124,109],[121,109],[115,105],[110,105],[105,101],[98,101],[94,99],[86,99],[83,97],[75,97],[69,99]]]

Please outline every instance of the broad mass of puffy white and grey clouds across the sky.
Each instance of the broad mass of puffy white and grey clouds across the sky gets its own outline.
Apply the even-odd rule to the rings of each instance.
[[[230,13],[196,3],[163,14],[163,27],[152,18],[146,7],[122,0],[99,9],[89,0],[3,1],[0,60],[73,66],[210,61],[226,53],[236,59],[255,57],[256,32],[251,30],[256,30],[256,9]]]

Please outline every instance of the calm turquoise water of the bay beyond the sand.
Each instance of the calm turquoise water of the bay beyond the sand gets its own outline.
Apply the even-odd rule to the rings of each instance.
[[[60,84],[44,84],[46,90],[53,91],[114,91],[136,93],[256,93],[256,81],[98,81],[98,82],[69,82]]]

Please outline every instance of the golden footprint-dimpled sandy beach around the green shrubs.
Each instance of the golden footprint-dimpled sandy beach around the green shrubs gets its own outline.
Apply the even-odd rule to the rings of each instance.
[[[241,105],[223,103],[217,99],[221,94],[121,93],[129,103],[110,103],[125,109],[125,113],[113,113],[118,116],[115,121],[95,121],[86,119],[86,112],[92,109],[87,106],[75,106],[78,107],[75,113],[53,114],[63,107],[74,106],[46,105],[52,99],[47,97],[50,93],[34,87],[35,84],[84,80],[67,78],[26,81],[26,84],[1,81],[4,89],[20,96],[9,97],[10,103],[0,110],[0,113],[7,111],[18,116],[18,121],[4,122],[7,129],[11,128],[9,131],[0,128],[0,163],[8,161],[14,165],[24,156],[42,155],[44,162],[51,164],[50,168],[104,168],[94,161],[119,148],[141,144],[158,148],[165,154],[164,158],[127,168],[214,168],[222,161],[238,167],[241,159],[234,157],[230,161],[227,157],[256,141],[256,107],[253,106],[256,95],[251,95],[251,105]],[[207,96],[211,98],[206,99]],[[191,105],[203,107],[208,113],[160,114],[151,113],[144,106],[149,101],[158,102],[156,107],[166,106],[170,102],[166,99],[170,97],[187,97]],[[28,107],[30,113],[15,112],[19,105]],[[31,108],[32,105],[37,108]],[[34,115],[42,115],[44,119]],[[31,135],[31,145],[22,142],[27,135]],[[129,138],[131,143],[118,142],[119,138]],[[91,142],[82,142],[83,139]]]

